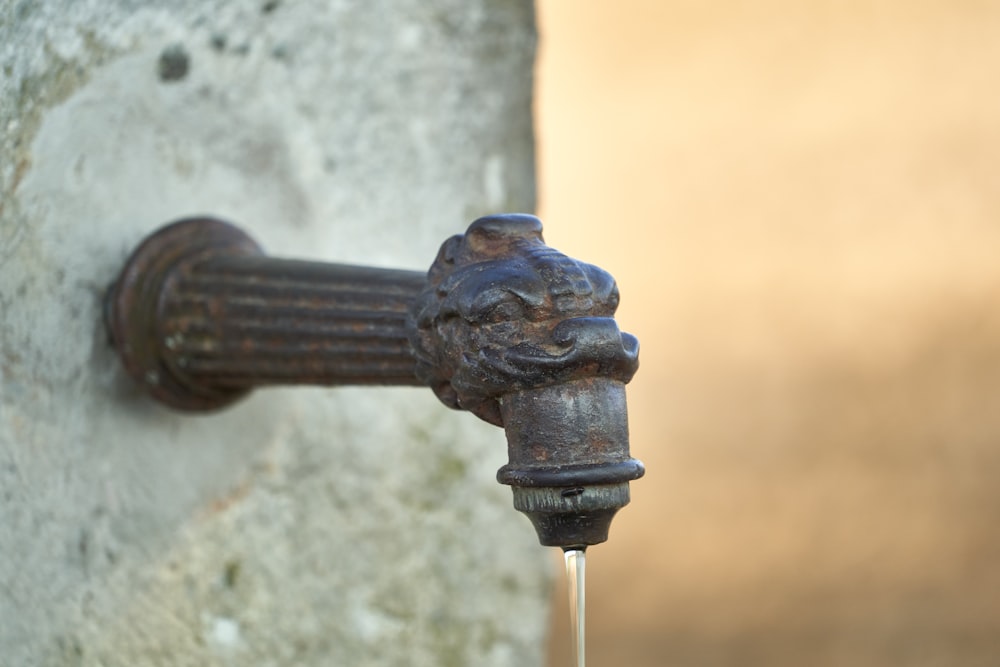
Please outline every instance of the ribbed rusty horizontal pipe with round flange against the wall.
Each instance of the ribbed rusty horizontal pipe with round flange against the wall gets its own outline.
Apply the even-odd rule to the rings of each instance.
[[[419,271],[267,257],[212,218],[142,242],[108,292],[129,374],[181,410],[212,410],[271,384],[421,383],[407,334]]]

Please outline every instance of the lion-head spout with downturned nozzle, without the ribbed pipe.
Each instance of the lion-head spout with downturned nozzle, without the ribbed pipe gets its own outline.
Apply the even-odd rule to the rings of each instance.
[[[625,407],[639,344],[617,307],[607,272],[546,246],[534,216],[502,215],[445,242],[412,309],[417,376],[503,426],[510,461],[497,479],[546,546],[607,540],[644,472]]]

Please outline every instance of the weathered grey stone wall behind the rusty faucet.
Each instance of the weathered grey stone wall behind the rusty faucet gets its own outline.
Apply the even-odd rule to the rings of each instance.
[[[412,388],[139,395],[101,325],[178,217],[424,269],[534,205],[530,2],[0,0],[0,665],[540,664],[503,433]]]

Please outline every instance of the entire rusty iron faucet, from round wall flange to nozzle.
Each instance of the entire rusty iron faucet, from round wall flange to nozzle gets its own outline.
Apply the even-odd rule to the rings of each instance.
[[[493,215],[419,271],[268,257],[238,227],[187,218],[147,237],[105,299],[128,374],[212,411],[280,384],[429,386],[504,429],[497,480],[539,542],[608,539],[629,482],[625,384],[638,341],[604,270],[545,245],[538,218]]]

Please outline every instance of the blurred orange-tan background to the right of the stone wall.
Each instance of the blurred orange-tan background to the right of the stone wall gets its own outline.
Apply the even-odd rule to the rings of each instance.
[[[1000,3],[538,12],[546,240],[643,346],[589,664],[1000,664]]]

